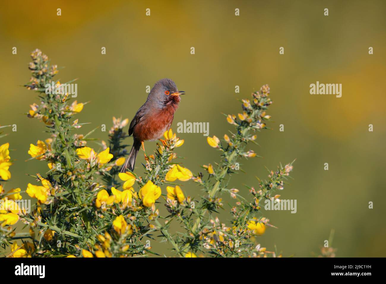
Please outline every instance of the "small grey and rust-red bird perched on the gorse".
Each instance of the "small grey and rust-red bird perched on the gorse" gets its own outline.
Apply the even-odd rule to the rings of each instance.
[[[121,173],[124,173],[126,168],[134,170],[135,158],[141,145],[145,151],[144,141],[157,140],[170,128],[174,112],[181,100],[179,95],[183,94],[185,92],[179,91],[173,80],[165,78],[154,84],[146,102],[130,122],[129,135],[133,134],[134,143]]]

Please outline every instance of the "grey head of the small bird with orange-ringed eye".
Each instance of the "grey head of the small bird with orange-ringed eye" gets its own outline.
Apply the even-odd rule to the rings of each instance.
[[[184,91],[177,89],[176,83],[171,79],[161,79],[154,84],[149,94],[149,99],[154,100],[160,107],[168,104],[178,104],[180,95],[185,94]]]

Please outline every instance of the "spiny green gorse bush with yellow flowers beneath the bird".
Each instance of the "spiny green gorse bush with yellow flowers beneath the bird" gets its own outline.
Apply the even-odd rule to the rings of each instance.
[[[40,102],[31,105],[27,116],[43,122],[47,137],[31,144],[28,154],[30,159],[47,163],[47,172],[30,173],[25,193],[36,201],[30,212],[20,206],[24,191],[5,193],[1,188],[0,245],[4,250],[11,247],[7,256],[149,256],[158,254],[150,245],[155,240],[166,241],[171,256],[281,256],[259,244],[258,236],[271,226],[262,215],[261,204],[279,199],[277,192],[283,190],[292,163],[270,171],[267,180],[248,188],[248,196],[241,196],[230,185],[230,176],[239,167],[237,161],[257,156],[247,146],[256,143],[256,133],[266,129],[265,122],[270,119],[266,111],[272,101],[267,85],[251,99],[240,101],[242,110],[237,116],[226,116],[234,127],[229,135],[221,140],[207,138],[208,145],[219,151],[220,160],[204,165],[205,174],[193,175],[185,167],[191,162],[178,162],[175,151],[184,140],[171,129],[157,141],[154,153],[145,153],[141,175],[139,169],[120,173],[128,119],[113,118],[108,141],[99,143],[100,149],[92,148],[90,141],[95,139],[91,135],[96,129],[80,134],[84,124],[75,118],[85,103],[73,100],[63,92],[62,84],[53,80],[58,67],[50,65],[45,54],[37,49],[31,57],[32,78],[25,86],[38,92]],[[2,181],[10,178],[8,146],[0,146]],[[186,196],[179,186],[187,182],[200,185],[195,197]],[[234,199],[227,221],[217,217],[218,211],[226,208],[223,194]],[[14,206],[5,206],[11,203]],[[160,206],[166,206],[166,216],[161,216]],[[178,233],[171,231],[172,223],[179,225]]]

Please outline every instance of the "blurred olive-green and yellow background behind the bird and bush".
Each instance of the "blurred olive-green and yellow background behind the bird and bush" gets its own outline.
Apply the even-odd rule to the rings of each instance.
[[[147,8],[151,16],[145,15]],[[235,16],[236,8],[240,16]],[[29,54],[36,48],[52,64],[66,67],[56,80],[79,78],[78,102],[90,103],[77,118],[91,122],[79,133],[101,124],[110,128],[113,116],[131,120],[146,100],[146,86],[167,77],[187,93],[173,129],[184,119],[209,122],[210,136],[222,137],[232,128],[222,113],[237,114],[237,99],[250,98],[252,91],[269,84],[274,103],[267,112],[273,122],[267,125],[272,130],[258,133],[260,146],[252,145],[264,158],[242,160],[247,174],[233,175],[230,185],[248,196],[243,184],[256,187],[255,176],[268,174],[265,167],[274,170],[296,158],[294,180],[279,194],[297,199],[297,213],[264,212],[278,229],[268,228],[259,242],[271,251],[276,245],[283,256],[310,257],[334,229],[338,257],[384,257],[385,12],[384,1],[4,1],[0,124],[17,124],[17,132],[6,128],[9,136],[0,140],[14,150],[12,180],[5,189],[25,190],[33,180],[27,173],[47,170],[44,162],[24,162],[30,157],[29,144],[48,137],[42,123],[25,115],[38,102],[37,94],[21,87],[29,81]],[[310,95],[309,86],[316,81],[341,83],[342,97]],[[93,136],[107,141],[107,132]],[[185,145],[178,155],[186,157],[183,165],[192,172],[218,161],[219,152],[202,134],[179,136]],[[147,142],[147,151],[154,146]],[[139,174],[143,160],[139,155]],[[193,182],[185,182],[183,190],[200,194]],[[224,204],[231,201],[223,198]],[[369,201],[374,209],[368,208]],[[230,217],[228,212],[219,214],[222,221]],[[170,255],[168,246],[151,245]]]

